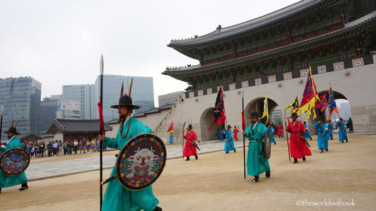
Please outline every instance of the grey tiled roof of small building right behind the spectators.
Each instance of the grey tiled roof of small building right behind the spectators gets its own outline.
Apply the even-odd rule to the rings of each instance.
[[[107,123],[104,126],[105,131],[112,130],[112,127]],[[55,119],[47,130],[47,134],[55,128],[62,133],[99,132],[100,122],[99,119]]]

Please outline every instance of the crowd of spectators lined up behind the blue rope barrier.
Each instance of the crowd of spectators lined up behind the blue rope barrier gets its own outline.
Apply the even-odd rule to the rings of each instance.
[[[29,152],[30,158],[41,158],[41,157],[52,157],[61,155],[72,155],[72,154],[82,154],[90,152],[100,151],[100,142],[97,138],[92,138],[91,140],[66,140],[64,143],[61,140],[55,141],[40,141],[35,142],[23,142],[22,149]],[[113,150],[112,148],[107,148],[103,145],[103,151]]]

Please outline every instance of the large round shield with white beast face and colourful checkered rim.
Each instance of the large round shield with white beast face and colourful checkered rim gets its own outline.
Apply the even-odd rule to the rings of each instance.
[[[166,147],[158,136],[139,134],[129,139],[118,154],[117,179],[129,190],[146,188],[161,175],[166,158]]]

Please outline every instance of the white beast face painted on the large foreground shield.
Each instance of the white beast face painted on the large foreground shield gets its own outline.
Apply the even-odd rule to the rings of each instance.
[[[131,179],[133,177],[137,176],[152,176],[155,174],[156,170],[156,163],[158,163],[158,160],[161,158],[158,157],[158,155],[154,154],[154,151],[152,149],[143,148],[136,151],[136,153],[130,157],[127,158],[127,161],[129,161],[127,166],[127,169],[124,169],[124,172],[127,172],[126,175],[127,179]]]

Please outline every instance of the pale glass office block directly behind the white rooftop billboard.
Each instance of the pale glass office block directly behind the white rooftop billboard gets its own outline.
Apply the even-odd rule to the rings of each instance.
[[[81,119],[97,119],[96,110],[98,110],[98,106],[96,104],[95,87],[94,84],[63,86],[62,98],[80,101]]]

